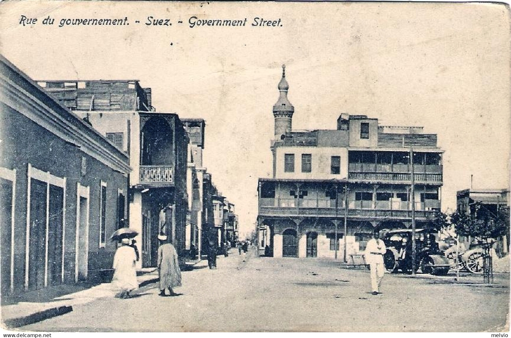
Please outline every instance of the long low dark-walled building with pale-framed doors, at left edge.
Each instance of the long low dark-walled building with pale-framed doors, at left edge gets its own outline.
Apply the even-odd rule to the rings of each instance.
[[[127,216],[126,153],[0,57],[2,297],[102,278]]]

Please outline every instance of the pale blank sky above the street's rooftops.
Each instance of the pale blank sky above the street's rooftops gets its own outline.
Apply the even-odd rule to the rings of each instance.
[[[21,15],[38,21],[23,26]],[[53,25],[42,24],[48,16]],[[150,16],[172,26],[146,25]],[[59,27],[125,17],[130,25]],[[191,28],[191,17],[247,22]],[[282,26],[252,27],[255,17]],[[203,164],[236,204],[242,233],[254,229],[258,178],[271,177],[282,64],[293,129],[335,129],[350,113],[437,134],[443,211],[471,177],[473,188],[509,187],[509,38],[502,4],[0,4],[0,53],[32,79],[136,79],[157,111],[204,118]]]

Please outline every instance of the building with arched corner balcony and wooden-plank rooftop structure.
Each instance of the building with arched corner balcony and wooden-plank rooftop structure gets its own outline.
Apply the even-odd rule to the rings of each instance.
[[[176,114],[152,111],[151,90],[136,80],[40,81],[129,156],[129,227],[139,232],[138,267],[156,266],[159,232],[183,257],[189,138]]]

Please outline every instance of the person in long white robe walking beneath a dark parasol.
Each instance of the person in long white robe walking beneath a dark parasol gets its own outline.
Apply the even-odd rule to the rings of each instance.
[[[121,246],[113,256],[113,269],[115,271],[112,284],[119,289],[119,293],[115,295],[118,298],[129,298],[130,292],[138,287],[135,270],[136,255],[129,244],[130,240],[123,238]]]

